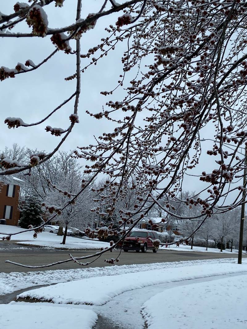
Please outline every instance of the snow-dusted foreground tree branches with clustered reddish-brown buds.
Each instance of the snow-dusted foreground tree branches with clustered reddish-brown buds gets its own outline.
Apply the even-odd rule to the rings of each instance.
[[[2,161],[5,169],[0,174],[32,171],[34,166],[55,154],[78,123],[80,73],[100,63],[104,55],[123,42],[126,50],[121,59],[123,72],[117,86],[101,92],[108,98],[107,110],[104,108],[98,113],[87,111],[95,119],[110,120],[115,128],[102,133],[94,144],[80,146],[74,154],[87,161],[84,173],[89,174],[90,178],[85,180],[72,200],[76,200],[99,174],[109,177],[104,187],[107,196],[99,206],[105,209],[102,225],[98,230],[89,230],[90,234],[118,232],[124,239],[128,233],[125,223],[130,224],[128,230],[131,230],[156,204],[177,220],[197,220],[198,225],[190,235],[192,237],[210,216],[224,214],[241,205],[245,201],[246,187],[241,186],[239,179],[243,177],[246,156],[238,156],[237,152],[247,142],[246,2],[215,0],[193,1],[190,4],[184,0],[133,0],[117,4],[115,1],[102,1],[102,7],[96,14],[89,14],[82,20],[79,19],[81,1],[78,0],[75,23],[56,30],[46,25],[43,12],[46,6],[54,2],[60,4],[58,1],[42,1],[39,7],[32,3],[25,8],[15,7],[16,12],[11,15],[2,15],[0,23],[4,25],[0,29],[5,30],[10,25],[17,28],[19,21],[26,20],[33,31],[28,34],[4,31],[0,33],[1,37],[35,39],[37,36],[51,36],[56,49],[39,65],[28,62],[26,65],[17,64],[15,69],[2,67],[1,80],[40,68],[58,51],[74,54],[76,73],[68,80],[76,79],[75,92],[47,117],[34,124],[42,124],[72,98],[75,100],[74,113],[70,115],[69,128],[46,127],[52,135],[63,136],[53,151],[33,154],[29,164],[17,164],[6,159]],[[112,13],[123,10],[116,24],[102,31],[96,46],[81,55],[82,33],[93,28],[101,17],[108,15],[110,20]],[[34,12],[36,16],[32,19]],[[69,32],[68,36],[64,36],[64,32]],[[69,46],[72,38],[76,38],[74,50]],[[85,59],[82,65],[81,59]],[[90,59],[89,63],[87,59]],[[126,79],[129,78],[131,80],[127,83]],[[125,96],[112,101],[109,96],[117,88],[122,88]],[[5,122],[10,128],[30,126],[20,118],[8,117]],[[203,152],[200,133],[205,127],[210,131],[214,129],[211,131],[215,138],[213,148],[205,153],[216,158],[216,168],[208,171],[205,165],[205,171],[198,175],[196,167]],[[226,147],[227,143],[233,144],[231,151]],[[197,179],[204,183],[204,188],[193,196],[181,197],[185,175],[192,175],[194,179],[199,176]],[[134,210],[126,209],[121,213],[122,223],[112,230],[111,224],[106,226],[106,223],[130,180],[136,185]],[[229,195],[234,195],[234,200],[228,204]],[[164,197],[167,198],[166,205],[159,202]],[[170,201],[179,202],[187,208],[200,205],[201,212],[184,218],[173,211]],[[54,216],[56,214],[50,220]],[[114,247],[115,244],[108,250]],[[71,256],[67,261],[84,265],[79,260],[96,259],[104,252],[78,258]]]

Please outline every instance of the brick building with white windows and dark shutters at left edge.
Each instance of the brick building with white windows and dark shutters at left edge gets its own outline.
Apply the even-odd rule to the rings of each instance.
[[[0,220],[1,224],[17,225],[20,219],[18,209],[20,186],[14,179],[5,184],[0,182]],[[5,221],[3,220],[5,219]]]

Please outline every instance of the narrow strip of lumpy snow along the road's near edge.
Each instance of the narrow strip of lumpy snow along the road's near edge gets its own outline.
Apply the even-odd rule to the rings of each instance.
[[[49,270],[36,272],[11,272],[0,273],[0,295],[6,295],[14,291],[30,288],[33,286],[43,286],[60,282],[69,282],[98,276],[119,275],[124,273],[135,273],[164,268],[177,268],[184,266],[194,266],[202,264],[235,263],[234,258],[222,258],[211,260],[194,260],[180,262],[165,262],[153,264],[105,266],[105,267],[85,267],[68,270]]]

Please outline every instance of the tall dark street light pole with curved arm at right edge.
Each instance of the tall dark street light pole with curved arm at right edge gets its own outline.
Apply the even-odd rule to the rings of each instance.
[[[217,143],[220,143],[218,140],[214,140],[214,139],[210,139],[210,138],[207,138],[207,139],[200,139],[200,141],[205,141],[205,140],[212,140],[213,142],[217,142]],[[231,150],[235,151],[235,149],[231,148],[229,145],[231,146],[235,146],[235,145],[232,145],[232,144],[226,144],[226,143],[223,143],[223,145],[225,145],[226,147],[230,148]],[[242,150],[244,150],[244,153],[242,152],[238,152],[237,153],[240,153],[242,155],[245,156],[245,160],[244,160],[244,177],[243,177],[243,187],[245,188],[246,187],[246,174],[247,174],[247,146],[244,148],[244,147],[240,147],[239,148]],[[240,228],[239,228],[239,244],[238,244],[238,257],[237,257],[237,264],[242,264],[242,250],[243,250],[243,233],[244,233],[244,208],[245,208],[245,190],[243,190],[242,192],[242,198],[243,198],[243,203],[241,205],[241,218],[240,218]]]

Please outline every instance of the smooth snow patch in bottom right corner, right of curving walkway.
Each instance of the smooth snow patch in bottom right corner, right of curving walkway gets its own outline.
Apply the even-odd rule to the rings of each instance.
[[[149,329],[244,329],[246,291],[247,275],[176,287],[151,297],[142,314]]]

